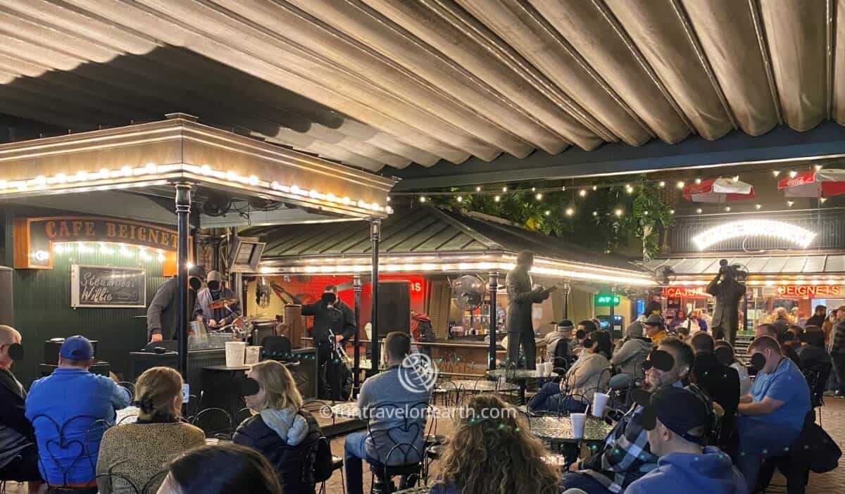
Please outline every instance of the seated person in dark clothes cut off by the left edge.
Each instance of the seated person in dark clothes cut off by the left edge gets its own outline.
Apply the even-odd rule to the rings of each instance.
[[[12,364],[24,357],[20,333],[0,325],[0,481],[29,482],[29,491],[41,488],[38,450],[30,421],[26,420],[26,391],[12,373]]]

